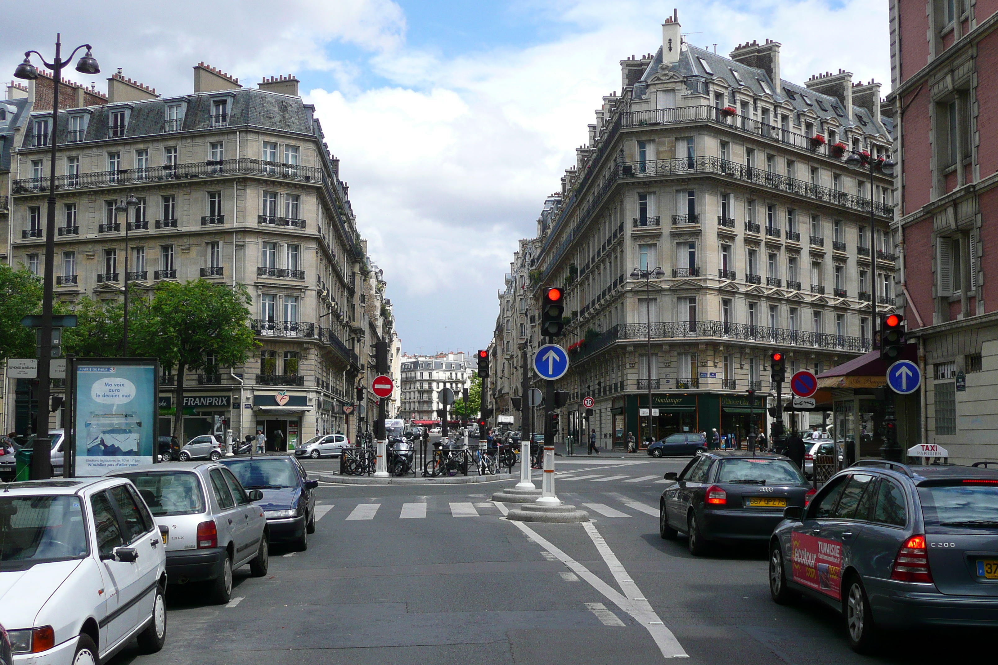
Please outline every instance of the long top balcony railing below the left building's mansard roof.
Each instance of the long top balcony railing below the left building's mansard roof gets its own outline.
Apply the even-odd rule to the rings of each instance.
[[[159,182],[164,180],[184,180],[218,175],[263,175],[287,180],[321,182],[322,169],[314,166],[297,166],[263,162],[240,158],[238,160],[213,161],[194,164],[165,165],[143,169],[101,170],[89,173],[68,173],[56,175],[57,189],[103,187],[108,184],[132,184],[135,182]],[[14,193],[47,191],[49,179],[24,177],[13,182]]]

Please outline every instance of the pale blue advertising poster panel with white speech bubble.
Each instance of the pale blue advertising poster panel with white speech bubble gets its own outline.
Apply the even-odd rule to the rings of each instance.
[[[76,475],[153,464],[158,369],[149,364],[80,360],[76,365]]]

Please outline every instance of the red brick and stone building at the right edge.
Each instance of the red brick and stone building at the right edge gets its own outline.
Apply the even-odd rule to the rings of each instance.
[[[890,38],[910,443],[998,459],[998,0],[890,0]]]

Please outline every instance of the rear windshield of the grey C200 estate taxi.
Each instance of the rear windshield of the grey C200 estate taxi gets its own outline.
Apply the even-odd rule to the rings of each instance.
[[[920,486],[926,526],[998,530],[998,486]]]

